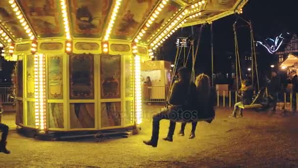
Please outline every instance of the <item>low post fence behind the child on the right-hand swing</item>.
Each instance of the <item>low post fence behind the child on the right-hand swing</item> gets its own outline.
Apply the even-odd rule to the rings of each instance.
[[[233,107],[240,101],[237,91],[217,90],[216,92],[218,107]],[[254,95],[256,95],[255,92]],[[298,93],[279,92],[276,97],[276,110],[298,111]]]

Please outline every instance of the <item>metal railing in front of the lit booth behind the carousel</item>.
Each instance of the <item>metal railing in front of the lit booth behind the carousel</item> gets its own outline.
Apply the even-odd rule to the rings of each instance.
[[[142,92],[143,92],[143,102],[163,103],[168,98],[170,87],[169,86],[144,86]]]

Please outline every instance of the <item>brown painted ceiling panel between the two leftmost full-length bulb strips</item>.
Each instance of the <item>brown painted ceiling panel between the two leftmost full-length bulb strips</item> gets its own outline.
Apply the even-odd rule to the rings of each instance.
[[[38,37],[63,36],[59,0],[18,0]]]

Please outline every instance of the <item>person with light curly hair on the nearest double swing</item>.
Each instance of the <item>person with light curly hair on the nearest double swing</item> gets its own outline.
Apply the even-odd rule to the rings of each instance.
[[[216,100],[216,92],[210,84],[210,78],[208,75],[200,74],[196,78],[195,82],[197,86],[197,94],[198,94],[198,111],[200,118],[213,118],[215,116],[214,106]],[[211,120],[212,121],[212,120]],[[207,121],[211,123],[211,121]],[[192,131],[189,136],[189,139],[194,139],[196,137],[195,131],[198,122],[192,122]],[[181,123],[181,130],[178,133],[178,136],[184,136],[184,129],[185,129],[186,122]]]

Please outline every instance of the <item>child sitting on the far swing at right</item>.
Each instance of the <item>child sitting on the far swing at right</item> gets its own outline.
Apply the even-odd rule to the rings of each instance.
[[[239,110],[239,114],[237,117],[243,117],[243,109],[239,108],[241,105],[250,105],[253,97],[253,89],[247,80],[243,80],[241,83],[241,88],[238,92],[238,97],[242,98],[242,101],[236,103],[234,105],[234,110],[229,117],[236,118],[237,111]]]

